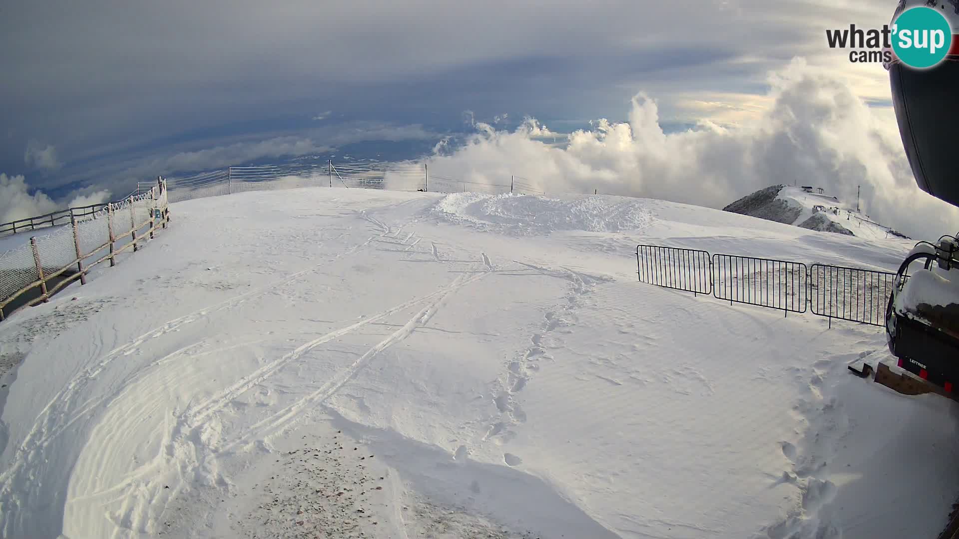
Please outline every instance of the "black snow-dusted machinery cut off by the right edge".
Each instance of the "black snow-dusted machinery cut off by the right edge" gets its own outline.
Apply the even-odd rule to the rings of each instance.
[[[901,12],[933,8],[952,28],[948,54],[919,69],[892,55],[885,64],[902,145],[919,188],[959,206],[953,126],[959,124],[959,2],[901,0]],[[957,234],[959,235],[959,234]],[[910,273],[911,271],[911,273]],[[886,341],[899,366],[947,393],[959,391],[959,240],[920,242],[902,262],[886,308]],[[955,396],[955,395],[952,395]]]

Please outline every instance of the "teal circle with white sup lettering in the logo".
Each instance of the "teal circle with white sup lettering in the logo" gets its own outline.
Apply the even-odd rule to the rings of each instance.
[[[942,13],[918,7],[902,12],[893,24],[893,51],[902,63],[923,69],[946,58],[952,27]]]

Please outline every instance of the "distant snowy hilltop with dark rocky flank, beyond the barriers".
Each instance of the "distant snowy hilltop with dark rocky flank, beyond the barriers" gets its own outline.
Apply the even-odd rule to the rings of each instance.
[[[828,195],[807,193],[801,187],[773,185],[738,199],[723,209],[777,223],[795,224],[810,230],[860,238],[881,240],[903,237],[900,233],[872,221],[856,210],[854,205]]]

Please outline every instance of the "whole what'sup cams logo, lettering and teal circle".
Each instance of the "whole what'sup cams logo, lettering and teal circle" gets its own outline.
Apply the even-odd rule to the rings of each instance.
[[[909,67],[924,69],[945,59],[952,46],[946,10],[959,15],[959,0],[926,0],[909,9],[906,0],[901,0],[892,26],[862,29],[851,24],[848,29],[827,30],[826,40],[830,49],[851,49],[849,60],[853,63],[888,65],[898,59]]]

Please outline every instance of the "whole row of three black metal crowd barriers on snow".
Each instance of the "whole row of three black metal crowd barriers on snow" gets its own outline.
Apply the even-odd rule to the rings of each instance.
[[[883,326],[896,274],[872,269],[636,246],[639,280],[788,313]]]

